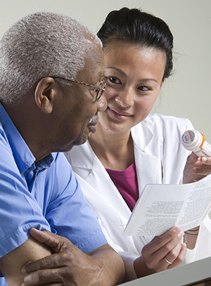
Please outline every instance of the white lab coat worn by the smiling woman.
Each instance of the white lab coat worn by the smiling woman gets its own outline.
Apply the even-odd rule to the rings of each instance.
[[[184,131],[193,129],[188,119],[148,115],[132,128],[139,194],[148,183],[182,183],[189,152],[181,145]],[[108,243],[122,256],[129,280],[135,279],[133,262],[153,237],[123,236],[131,211],[96,157],[87,141],[65,153],[82,186],[84,197],[93,207]],[[195,249],[186,254],[186,261],[211,254],[211,223],[207,217],[200,228]]]

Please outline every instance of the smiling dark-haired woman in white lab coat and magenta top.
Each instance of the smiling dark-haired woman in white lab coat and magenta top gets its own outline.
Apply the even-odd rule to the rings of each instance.
[[[209,255],[201,238],[206,235],[211,246],[208,218],[185,235],[179,228],[158,238],[124,237],[122,232],[146,184],[182,183],[185,165],[186,183],[210,169],[201,174],[204,165],[194,154],[186,164],[189,153],[180,141],[193,128],[188,119],[149,115],[172,71],[173,37],[165,22],[122,8],[108,15],[98,37],[106,60],[108,108],[99,113],[89,142],[65,155],[108,242],[124,259],[126,279],[132,280]],[[183,236],[186,243],[180,242]]]

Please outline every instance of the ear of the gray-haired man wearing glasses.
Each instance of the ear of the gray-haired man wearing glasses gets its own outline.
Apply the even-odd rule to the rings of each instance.
[[[53,99],[55,95],[55,80],[52,77],[44,77],[36,86],[34,100],[43,112],[50,114],[53,111]]]

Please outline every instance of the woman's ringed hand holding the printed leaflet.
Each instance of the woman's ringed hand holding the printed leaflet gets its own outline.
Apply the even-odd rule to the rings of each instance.
[[[186,256],[186,244],[180,240],[184,231],[178,227],[171,228],[142,249],[141,256],[134,261],[136,275],[143,276],[179,266]]]

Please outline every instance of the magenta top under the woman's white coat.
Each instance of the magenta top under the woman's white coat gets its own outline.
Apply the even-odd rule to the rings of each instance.
[[[106,169],[113,183],[127,203],[131,211],[139,198],[139,187],[136,175],[136,165],[133,163],[123,171]]]

